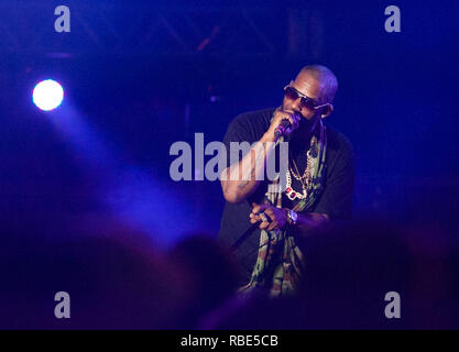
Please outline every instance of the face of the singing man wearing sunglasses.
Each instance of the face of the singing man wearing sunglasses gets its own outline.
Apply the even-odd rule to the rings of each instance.
[[[307,73],[299,73],[299,75],[293,81],[292,87],[302,92],[303,95],[316,101],[320,101],[320,82]],[[309,109],[307,107],[302,106],[300,97],[297,97],[297,99],[294,100],[291,97],[288,97],[288,95],[284,96],[282,108],[283,110],[298,113],[309,123],[314,123],[320,114],[318,110]],[[300,123],[304,122],[306,121],[302,119]]]

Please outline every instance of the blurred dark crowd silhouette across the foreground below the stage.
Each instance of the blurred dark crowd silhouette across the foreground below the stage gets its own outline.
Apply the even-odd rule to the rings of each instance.
[[[103,227],[102,227],[103,228]],[[212,235],[159,251],[149,237],[106,231],[51,235],[2,226],[2,329],[457,329],[458,251],[441,231],[383,220],[330,223],[298,239],[298,294],[237,293],[237,263]],[[437,233],[435,232],[437,231]],[[56,319],[54,295],[70,295]],[[385,295],[401,298],[389,319]]]

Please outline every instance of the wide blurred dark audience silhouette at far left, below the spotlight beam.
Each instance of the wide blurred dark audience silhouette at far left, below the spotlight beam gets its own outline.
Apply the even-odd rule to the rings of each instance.
[[[1,328],[160,329],[187,305],[188,275],[142,235],[1,232]],[[69,319],[55,317],[58,292],[70,297]]]

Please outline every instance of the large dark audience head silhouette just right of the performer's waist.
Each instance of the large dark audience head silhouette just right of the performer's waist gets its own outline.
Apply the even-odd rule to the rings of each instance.
[[[395,227],[379,221],[331,224],[299,245],[306,257],[305,328],[398,329],[414,318],[406,311],[404,320],[385,317],[393,295],[409,306],[413,278],[412,254]]]

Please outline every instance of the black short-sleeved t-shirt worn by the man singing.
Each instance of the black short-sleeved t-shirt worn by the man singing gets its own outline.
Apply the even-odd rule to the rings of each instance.
[[[231,121],[223,139],[227,148],[227,163],[230,163],[230,142],[260,141],[270,127],[274,109],[247,112]],[[339,132],[327,125],[327,155],[325,187],[309,211],[326,213],[331,219],[349,219],[352,213],[353,195],[353,154],[350,142]],[[292,145],[292,144],[291,144]],[[289,146],[291,146],[289,145]],[[298,169],[306,167],[306,151],[309,141],[305,141],[304,147],[292,145],[293,158]],[[240,155],[239,160],[242,157]],[[300,190],[299,182],[292,177],[293,188]],[[250,228],[249,215],[252,211],[252,202],[262,204],[267,190],[269,180],[261,182],[256,190],[248,199],[239,204],[226,202],[220,223],[219,242],[230,248]],[[296,202],[296,200],[294,201]],[[293,202],[283,195],[283,207],[291,208]],[[260,243],[260,230],[255,227],[245,240],[234,251],[236,260],[240,266],[240,284],[247,284],[256,261]]]

